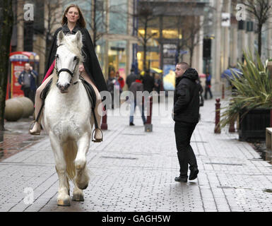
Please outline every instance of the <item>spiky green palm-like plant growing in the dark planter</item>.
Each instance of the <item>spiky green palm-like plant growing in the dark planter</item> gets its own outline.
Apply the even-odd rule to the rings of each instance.
[[[257,54],[256,62],[252,54],[244,52],[245,64],[238,64],[243,76],[232,73],[231,83],[236,88],[230,105],[223,107],[220,126],[235,121],[241,113],[241,119],[252,109],[272,108],[272,76],[268,71],[268,61],[261,62]]]

